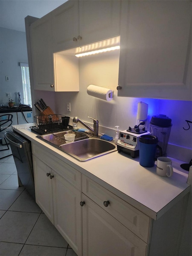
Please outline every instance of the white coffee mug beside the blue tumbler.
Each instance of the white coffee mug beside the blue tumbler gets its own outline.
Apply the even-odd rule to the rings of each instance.
[[[162,177],[171,177],[173,175],[172,161],[170,158],[160,156],[157,158],[156,173]]]

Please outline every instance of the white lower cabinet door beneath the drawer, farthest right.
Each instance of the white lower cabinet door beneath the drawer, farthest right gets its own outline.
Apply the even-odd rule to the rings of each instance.
[[[145,256],[147,244],[82,194],[83,255]]]

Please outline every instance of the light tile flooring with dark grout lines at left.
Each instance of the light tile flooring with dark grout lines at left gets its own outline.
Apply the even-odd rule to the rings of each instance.
[[[9,154],[1,151],[0,158]],[[75,255],[30,194],[18,187],[13,156],[0,159],[0,256]]]

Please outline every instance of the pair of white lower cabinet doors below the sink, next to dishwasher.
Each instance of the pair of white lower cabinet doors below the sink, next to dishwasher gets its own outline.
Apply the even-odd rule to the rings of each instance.
[[[35,155],[33,166],[36,203],[76,254],[82,255],[81,192]]]

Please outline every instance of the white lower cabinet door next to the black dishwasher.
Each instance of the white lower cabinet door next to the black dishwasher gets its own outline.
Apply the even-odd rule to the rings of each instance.
[[[53,204],[52,204],[52,182],[47,173],[51,169],[33,155],[33,170],[35,180],[35,199],[38,206],[43,210],[49,220],[53,221]]]

